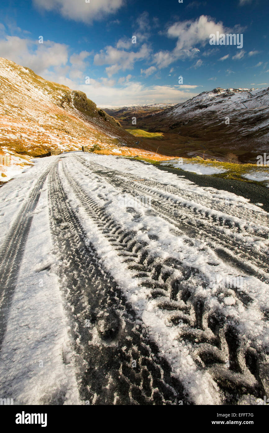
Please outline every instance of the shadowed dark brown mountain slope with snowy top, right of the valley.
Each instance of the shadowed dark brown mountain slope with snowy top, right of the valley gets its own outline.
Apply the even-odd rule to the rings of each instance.
[[[136,122],[140,129],[165,132],[160,150],[166,155],[206,151],[205,155],[223,160],[233,152],[241,162],[256,162],[257,155],[268,151],[269,88],[216,88]],[[166,145],[170,134],[174,144]]]

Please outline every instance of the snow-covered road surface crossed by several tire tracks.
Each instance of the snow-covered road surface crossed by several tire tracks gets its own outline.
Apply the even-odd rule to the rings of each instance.
[[[0,397],[263,404],[269,213],[113,156],[0,188]]]

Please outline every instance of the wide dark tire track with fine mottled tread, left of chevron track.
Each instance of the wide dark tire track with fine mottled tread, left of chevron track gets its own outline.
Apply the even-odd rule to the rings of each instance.
[[[64,159],[65,157],[63,157]],[[58,168],[49,178],[58,274],[81,362],[80,393],[91,404],[173,404],[183,387],[146,335],[116,282],[100,265],[68,203]],[[136,361],[136,367],[133,366]]]

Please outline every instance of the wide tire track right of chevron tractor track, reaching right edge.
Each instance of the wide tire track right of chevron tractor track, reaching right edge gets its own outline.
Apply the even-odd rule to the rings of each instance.
[[[158,214],[161,214],[165,219],[169,220],[184,233],[196,239],[204,239],[207,245],[212,248],[216,254],[224,261],[236,265],[248,275],[253,275],[261,281],[269,283],[269,267],[268,267],[268,248],[266,251],[259,252],[257,249],[251,248],[248,245],[249,239],[242,239],[237,233],[232,232],[228,228],[223,229],[221,226],[212,224],[212,221],[205,217],[196,217],[196,207],[179,207],[180,202],[175,202],[174,199],[163,197],[161,191],[153,191],[148,188],[139,187],[137,182],[133,184],[128,178],[123,179],[128,174],[120,171],[111,171],[108,168],[99,165],[95,162],[86,162],[84,158],[74,157],[84,166],[91,169],[102,178],[105,178],[109,183],[118,187],[121,191],[129,193],[133,196],[140,197],[143,194],[145,197],[150,197],[152,207]],[[178,198],[178,197],[177,197]],[[209,209],[208,209],[209,210]],[[192,213],[192,215],[190,215]],[[194,215],[193,215],[194,214]],[[208,215],[209,216],[209,215]],[[259,229],[259,228],[258,228]],[[266,230],[266,233],[264,232]],[[269,229],[265,226],[260,228],[263,236],[268,237]],[[250,234],[248,234],[250,236]],[[260,240],[260,239],[257,239]],[[262,238],[262,241],[264,239]]]

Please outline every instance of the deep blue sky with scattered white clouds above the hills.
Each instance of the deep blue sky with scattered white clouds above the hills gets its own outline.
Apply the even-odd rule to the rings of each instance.
[[[0,57],[99,107],[178,103],[214,87],[268,87],[268,13],[268,0],[9,0]],[[243,48],[210,45],[217,31],[243,34]]]

